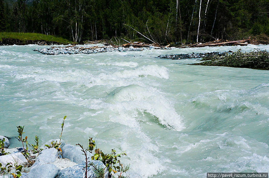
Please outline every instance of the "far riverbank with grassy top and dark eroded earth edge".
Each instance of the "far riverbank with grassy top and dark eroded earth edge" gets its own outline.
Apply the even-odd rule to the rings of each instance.
[[[2,45],[54,45],[77,44],[62,37],[43,35],[40,33],[0,32],[0,46]]]

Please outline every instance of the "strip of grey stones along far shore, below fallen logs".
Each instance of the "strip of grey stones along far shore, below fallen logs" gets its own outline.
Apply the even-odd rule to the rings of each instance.
[[[119,47],[119,46],[96,46],[96,47],[77,47],[77,46],[67,46],[67,47],[48,47],[43,49],[33,49],[33,51],[40,52],[45,55],[60,55],[60,54],[92,54],[98,52],[126,52],[126,51],[143,51],[144,49],[173,49],[175,47]]]

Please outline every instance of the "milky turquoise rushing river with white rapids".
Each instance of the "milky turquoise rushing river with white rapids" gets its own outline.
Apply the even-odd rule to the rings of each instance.
[[[58,138],[121,157],[142,177],[268,172],[269,71],[187,65],[164,54],[251,51],[268,45],[42,55],[0,47],[0,135],[21,146]]]

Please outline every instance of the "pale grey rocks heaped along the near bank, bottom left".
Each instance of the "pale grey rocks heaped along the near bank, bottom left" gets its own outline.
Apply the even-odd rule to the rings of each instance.
[[[0,138],[3,138],[3,136]],[[5,143],[8,139],[5,138]],[[5,144],[4,151],[8,152],[6,155],[0,156],[0,163],[4,167],[7,163],[11,162],[12,165],[22,165],[22,171],[20,178],[36,178],[36,177],[46,177],[46,178],[84,178],[85,177],[85,155],[79,146],[73,146],[70,144],[65,144],[62,140],[59,146],[61,151],[56,148],[48,148],[45,145],[50,144],[52,141],[60,141],[60,139],[49,140],[41,146],[43,150],[39,154],[33,154],[30,152],[30,158],[26,159],[22,152],[23,148],[8,148],[9,144]],[[108,170],[103,162],[100,160],[90,160],[93,156],[90,152],[87,152],[87,157],[89,157],[87,177],[95,178],[96,168],[102,168],[104,170],[104,178],[108,178]],[[29,166],[29,162],[34,161],[34,164]],[[15,172],[13,172],[15,173]],[[117,172],[112,175],[112,178],[118,178],[120,173]],[[131,171],[122,173],[126,178],[142,178],[139,174]],[[0,178],[11,178],[11,174],[6,174]]]

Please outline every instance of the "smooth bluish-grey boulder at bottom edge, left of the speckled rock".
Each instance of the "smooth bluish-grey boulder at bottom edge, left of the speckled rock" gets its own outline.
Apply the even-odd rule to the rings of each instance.
[[[55,178],[58,175],[59,168],[52,164],[35,166],[28,173],[28,178]]]

